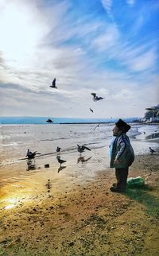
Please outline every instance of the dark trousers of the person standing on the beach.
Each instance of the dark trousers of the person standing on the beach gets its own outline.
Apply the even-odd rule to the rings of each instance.
[[[121,191],[126,190],[126,182],[128,176],[129,167],[126,168],[115,168],[115,176],[117,179],[116,188]]]

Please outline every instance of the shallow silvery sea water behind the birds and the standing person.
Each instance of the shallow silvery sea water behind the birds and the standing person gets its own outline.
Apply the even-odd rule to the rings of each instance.
[[[128,132],[134,152],[148,153],[149,145],[156,147],[152,139],[158,138],[157,125],[133,123]],[[96,128],[95,128],[96,127]],[[6,165],[25,158],[27,149],[41,153],[43,157],[56,154],[70,156],[77,153],[77,144],[87,145],[92,152],[103,149],[109,158],[109,145],[114,124],[45,124],[45,125],[2,125],[0,126],[0,165]],[[151,142],[149,142],[151,139]]]

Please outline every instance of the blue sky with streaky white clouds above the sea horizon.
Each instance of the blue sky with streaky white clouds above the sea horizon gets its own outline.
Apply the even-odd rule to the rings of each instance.
[[[159,0],[0,0],[0,31],[1,116],[143,117],[159,103]]]

